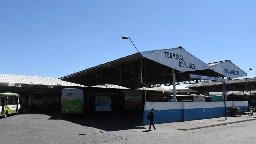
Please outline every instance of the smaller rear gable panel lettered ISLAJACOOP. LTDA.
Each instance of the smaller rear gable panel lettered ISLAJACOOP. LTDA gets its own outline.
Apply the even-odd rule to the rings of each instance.
[[[243,70],[234,65],[231,61],[212,65],[210,67],[217,73],[231,79],[247,76],[247,74]]]

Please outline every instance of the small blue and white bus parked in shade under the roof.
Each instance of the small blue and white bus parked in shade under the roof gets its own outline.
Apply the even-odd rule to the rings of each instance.
[[[97,96],[95,99],[95,111],[111,111],[110,96]]]

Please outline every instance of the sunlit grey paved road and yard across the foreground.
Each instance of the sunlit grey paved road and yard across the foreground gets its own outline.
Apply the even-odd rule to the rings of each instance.
[[[91,123],[92,121],[85,121]],[[95,128],[72,120],[51,119],[47,115],[17,115],[0,119],[0,144],[141,144],[141,143],[256,143],[255,121],[238,124],[178,131],[176,129],[143,132],[145,129],[107,131],[104,122]],[[101,129],[99,129],[101,128]],[[166,132],[168,131],[168,132]]]

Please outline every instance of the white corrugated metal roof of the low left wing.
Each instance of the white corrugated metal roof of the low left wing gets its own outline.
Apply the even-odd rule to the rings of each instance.
[[[85,87],[60,80],[58,78],[49,77],[34,77],[34,76],[19,76],[19,75],[5,75],[0,74],[0,83],[14,83],[24,85],[50,85],[50,86],[72,86],[72,87]]]

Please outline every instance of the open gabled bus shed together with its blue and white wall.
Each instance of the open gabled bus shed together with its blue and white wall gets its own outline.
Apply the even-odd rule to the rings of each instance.
[[[228,83],[229,80],[245,76],[247,73],[230,60],[206,64],[184,48],[177,47],[138,52],[60,79],[88,87],[104,84],[114,84],[130,89],[173,86],[173,98],[176,98],[177,84],[216,80]],[[222,91],[226,92],[226,88]],[[143,125],[149,124],[146,116],[151,108],[154,108],[158,115],[155,119],[156,124],[225,116],[223,102],[195,103],[175,101],[158,103],[146,99]],[[234,105],[233,102],[227,103],[227,107]],[[247,106],[248,102],[236,102],[236,107],[241,109]]]

